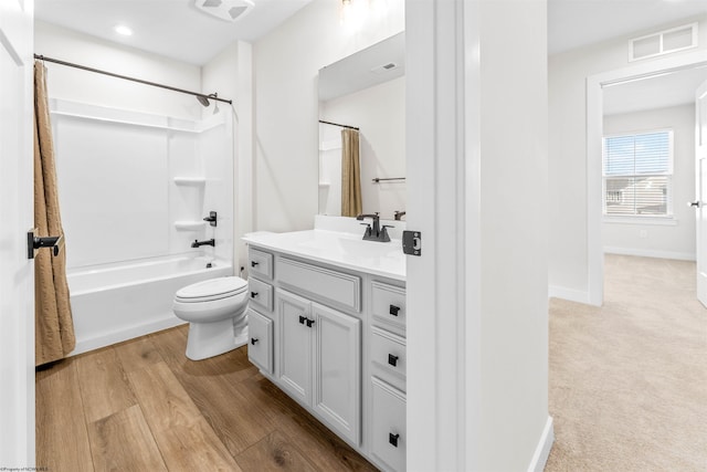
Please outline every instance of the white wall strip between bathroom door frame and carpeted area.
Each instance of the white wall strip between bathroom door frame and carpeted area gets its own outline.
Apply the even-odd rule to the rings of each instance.
[[[479,470],[518,471],[549,419],[547,7],[481,13]]]

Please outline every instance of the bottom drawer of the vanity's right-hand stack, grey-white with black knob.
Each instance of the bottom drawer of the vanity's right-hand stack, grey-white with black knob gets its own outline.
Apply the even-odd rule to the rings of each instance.
[[[384,381],[371,377],[372,424],[371,452],[394,471],[405,470],[405,395]]]

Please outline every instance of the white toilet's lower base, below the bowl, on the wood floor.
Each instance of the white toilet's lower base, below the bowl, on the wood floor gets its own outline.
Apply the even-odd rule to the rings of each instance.
[[[247,343],[247,327],[235,336],[233,318],[213,323],[189,323],[187,357],[202,360],[219,356]]]

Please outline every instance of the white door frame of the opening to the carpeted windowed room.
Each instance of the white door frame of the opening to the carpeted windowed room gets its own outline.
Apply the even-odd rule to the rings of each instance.
[[[602,87],[703,65],[707,65],[707,51],[658,59],[587,77],[587,297],[591,305],[601,306],[604,300],[601,233]]]

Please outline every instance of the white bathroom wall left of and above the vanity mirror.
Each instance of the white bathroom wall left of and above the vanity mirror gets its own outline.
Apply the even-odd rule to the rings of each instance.
[[[403,0],[358,31],[339,2],[313,0],[254,44],[254,228],[313,228],[318,207],[318,93],[323,66],[403,31]]]

